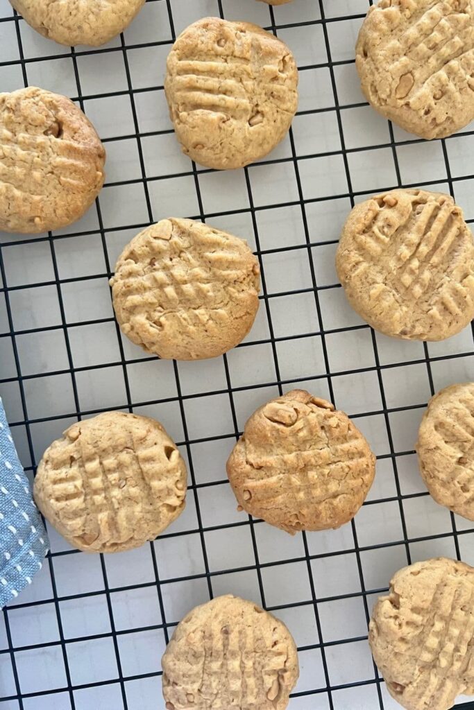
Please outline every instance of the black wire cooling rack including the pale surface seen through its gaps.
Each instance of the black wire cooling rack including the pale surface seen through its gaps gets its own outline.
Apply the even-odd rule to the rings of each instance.
[[[282,618],[301,677],[290,710],[393,710],[367,645],[372,604],[399,567],[474,563],[472,524],[436,506],[414,440],[427,400],[472,379],[473,332],[443,343],[381,337],[345,302],[334,270],[355,202],[401,186],[451,192],[474,221],[473,126],[420,141],[364,101],[354,45],[368,0],[148,0],[104,48],[41,38],[0,0],[0,88],[72,97],[106,144],[107,184],[70,228],[0,236],[0,393],[31,476],[80,417],[122,409],[161,420],[188,462],[188,504],[158,540],[84,555],[50,530],[41,574],[0,615],[0,710],[158,710],[161,652],[197,603],[232,592]],[[293,48],[301,102],[281,146],[232,173],[181,155],[163,96],[176,34],[217,15],[254,21]],[[107,279],[136,232],[170,215],[244,236],[262,266],[249,337],[220,359],[158,361],[122,339]],[[290,537],[238,513],[225,460],[244,422],[293,387],[355,418],[377,454],[367,502],[340,530]],[[465,704],[463,704],[463,700]],[[459,707],[473,707],[460,698]]]

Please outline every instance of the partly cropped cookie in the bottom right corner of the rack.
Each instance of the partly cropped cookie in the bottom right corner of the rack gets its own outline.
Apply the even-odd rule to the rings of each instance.
[[[406,710],[448,710],[474,694],[474,569],[446,557],[400,569],[375,605],[369,643]]]

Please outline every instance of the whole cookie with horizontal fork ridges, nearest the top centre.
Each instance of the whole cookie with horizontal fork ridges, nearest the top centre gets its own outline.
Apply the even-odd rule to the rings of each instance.
[[[168,55],[165,92],[178,141],[208,168],[242,168],[289,130],[298,71],[281,40],[246,22],[208,17]]]

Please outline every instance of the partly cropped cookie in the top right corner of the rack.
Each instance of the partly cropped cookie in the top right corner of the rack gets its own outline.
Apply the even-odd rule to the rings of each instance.
[[[381,0],[357,40],[355,64],[372,107],[421,138],[474,119],[474,0]]]

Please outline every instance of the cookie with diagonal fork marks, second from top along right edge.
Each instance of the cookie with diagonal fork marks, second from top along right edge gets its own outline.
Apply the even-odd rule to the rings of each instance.
[[[474,240],[449,195],[393,190],[357,204],[336,266],[350,304],[372,327],[443,340],[474,317]]]

